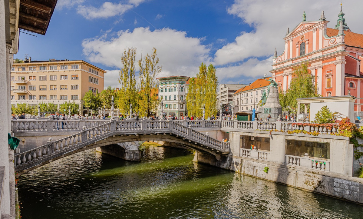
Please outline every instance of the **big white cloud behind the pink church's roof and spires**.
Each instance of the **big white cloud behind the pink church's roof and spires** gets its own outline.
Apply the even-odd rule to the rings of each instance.
[[[277,47],[278,54],[284,50],[284,40],[287,27],[290,31],[302,21],[302,13],[305,10],[306,19],[318,20],[321,11],[324,10],[326,20],[331,22],[328,27],[334,27],[340,11],[340,1],[306,0],[306,1],[250,1],[235,0],[227,9],[228,13],[239,17],[251,27],[253,31],[242,32],[240,36],[221,49],[218,49],[214,61],[218,65],[243,61],[249,57],[270,56]],[[363,26],[356,15],[360,14],[363,1],[345,1],[343,12],[346,23],[353,32],[363,32]]]

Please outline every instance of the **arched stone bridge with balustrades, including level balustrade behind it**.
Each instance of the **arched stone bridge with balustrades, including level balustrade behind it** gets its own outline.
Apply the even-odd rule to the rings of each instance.
[[[168,141],[180,143],[195,151],[209,154],[220,160],[229,154],[229,143],[218,141],[209,135],[193,130],[201,126],[200,121],[67,121],[66,131],[75,134],[15,155],[15,171],[18,175],[35,169],[56,159],[83,151],[121,142],[130,141]],[[13,133],[48,133],[57,130],[56,121],[33,120],[13,121]],[[101,124],[99,124],[101,123]],[[58,122],[58,126],[61,121]],[[184,125],[182,125],[184,124]],[[204,121],[204,126],[220,127],[220,121]],[[95,126],[96,125],[96,126]],[[88,127],[87,127],[88,126]],[[187,127],[189,126],[189,127]]]

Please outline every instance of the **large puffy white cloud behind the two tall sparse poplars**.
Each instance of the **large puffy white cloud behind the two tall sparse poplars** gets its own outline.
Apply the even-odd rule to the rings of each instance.
[[[171,75],[195,76],[201,62],[209,64],[209,48],[201,44],[201,38],[187,37],[187,33],[170,28],[156,29],[135,28],[119,31],[117,36],[107,40],[105,35],[83,40],[83,53],[91,62],[102,63],[112,68],[121,69],[121,55],[125,48],[137,48],[136,62],[141,53],[151,53],[153,47],[157,49],[162,72],[158,77]],[[136,67],[138,70],[138,67]],[[106,77],[115,73],[107,73]],[[114,83],[111,80],[107,83]],[[108,86],[106,84],[105,86]]]

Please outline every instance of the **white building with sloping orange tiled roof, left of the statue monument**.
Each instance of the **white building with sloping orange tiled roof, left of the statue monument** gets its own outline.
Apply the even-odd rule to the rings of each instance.
[[[252,114],[252,110],[258,110],[258,103],[262,98],[262,94],[267,92],[267,86],[270,84],[267,74],[265,77],[258,78],[252,84],[245,86],[237,90],[233,96],[233,110],[234,114],[237,115],[237,119],[249,120],[248,115]],[[240,120],[240,119],[239,119]]]

